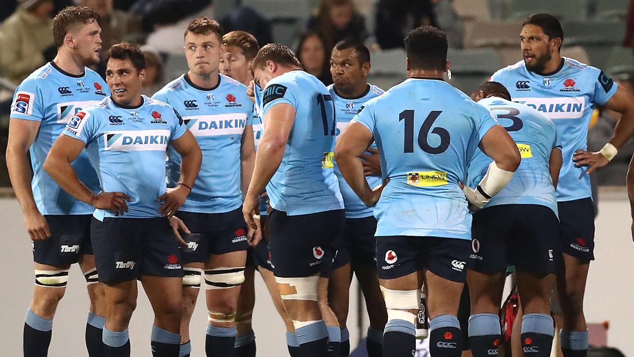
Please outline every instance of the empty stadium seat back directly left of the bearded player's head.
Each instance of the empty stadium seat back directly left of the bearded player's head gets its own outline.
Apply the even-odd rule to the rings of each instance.
[[[518,46],[522,24],[519,22],[475,21],[465,25],[465,48]]]

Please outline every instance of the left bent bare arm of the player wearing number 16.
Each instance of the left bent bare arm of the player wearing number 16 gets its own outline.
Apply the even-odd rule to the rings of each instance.
[[[374,141],[372,132],[362,124],[351,122],[346,126],[335,146],[335,160],[341,174],[366,206],[374,206],[387,184],[387,180],[375,189],[370,188],[363,174],[361,155]]]

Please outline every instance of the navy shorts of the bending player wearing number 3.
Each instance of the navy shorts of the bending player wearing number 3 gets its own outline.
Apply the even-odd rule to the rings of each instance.
[[[547,206],[497,205],[474,213],[469,269],[481,273],[508,266],[537,274],[557,273],[559,220]]]

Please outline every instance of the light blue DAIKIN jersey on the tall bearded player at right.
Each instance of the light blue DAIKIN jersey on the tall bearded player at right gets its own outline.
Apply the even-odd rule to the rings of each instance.
[[[574,166],[577,150],[588,149],[588,125],[595,105],[603,105],[616,93],[617,85],[595,67],[564,57],[553,74],[528,71],[524,60],[491,76],[503,84],[514,102],[526,104],[552,119],[562,142],[564,164],[557,184],[557,201],[592,197],[587,168]]]

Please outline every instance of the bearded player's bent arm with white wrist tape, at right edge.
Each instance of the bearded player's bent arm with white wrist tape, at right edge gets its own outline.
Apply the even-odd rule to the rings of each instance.
[[[576,163],[574,166],[589,166],[586,171],[588,175],[595,169],[607,165],[616,156],[618,149],[623,147],[634,133],[634,94],[619,86],[612,98],[605,103],[605,107],[621,113],[621,119],[614,127],[612,138],[600,151],[578,150],[574,152],[573,161]]]

